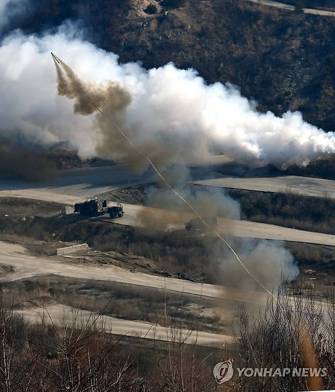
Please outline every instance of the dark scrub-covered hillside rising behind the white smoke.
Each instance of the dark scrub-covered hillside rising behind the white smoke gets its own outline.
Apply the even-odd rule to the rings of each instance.
[[[335,18],[245,0],[152,1],[158,9],[152,15],[144,12],[147,0],[34,1],[7,33],[77,21],[79,28],[86,26],[87,39],[114,51],[122,62],[193,67],[208,83],[240,86],[261,111],[300,110],[307,121],[335,129]]]

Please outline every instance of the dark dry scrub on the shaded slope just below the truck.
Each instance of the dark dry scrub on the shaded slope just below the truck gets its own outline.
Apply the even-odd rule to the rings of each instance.
[[[0,230],[0,240],[5,241],[38,240],[48,244],[79,241],[100,251],[143,256],[164,276],[182,274],[184,278],[212,282],[217,277],[218,260],[212,252],[212,239],[193,237],[184,231],[162,232],[71,215],[33,217],[25,221],[4,217],[0,218]]]

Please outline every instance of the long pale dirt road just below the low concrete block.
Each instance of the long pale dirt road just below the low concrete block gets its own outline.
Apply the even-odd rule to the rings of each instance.
[[[140,272],[130,272],[116,266],[82,266],[68,263],[67,258],[49,256],[35,257],[17,244],[0,242],[0,264],[15,266],[14,272],[3,275],[5,281],[15,281],[32,276],[55,274],[72,278],[96,279],[136,284],[156,289],[171,290],[180,293],[221,298],[228,301],[252,304],[264,303],[266,295],[253,291],[221,287],[215,284],[194,283],[176,278],[164,278]]]

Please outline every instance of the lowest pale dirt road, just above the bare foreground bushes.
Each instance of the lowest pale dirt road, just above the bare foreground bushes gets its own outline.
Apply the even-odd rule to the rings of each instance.
[[[47,312],[49,313],[54,323],[60,324],[64,319],[70,322],[76,315],[76,309],[72,309],[69,306],[61,304],[47,306]],[[50,317],[48,316],[44,308],[24,309],[24,317],[31,321],[39,320],[44,315],[44,321],[51,323]],[[94,320],[98,315],[96,313],[91,315],[91,312],[87,310],[78,311],[78,316],[85,320]],[[171,342],[171,330],[169,328],[162,327],[156,324],[150,324],[143,321],[132,321],[126,319],[119,319],[116,317],[103,316],[106,321],[107,327],[110,328],[110,333],[117,335],[127,335],[134,337],[141,337],[147,339],[155,339],[165,342]],[[202,331],[191,331],[188,329],[181,329],[178,337],[181,341],[186,344],[197,343],[198,346],[205,347],[216,347],[222,348],[223,345],[233,342],[233,337],[230,335],[219,335],[215,333],[202,332]]]

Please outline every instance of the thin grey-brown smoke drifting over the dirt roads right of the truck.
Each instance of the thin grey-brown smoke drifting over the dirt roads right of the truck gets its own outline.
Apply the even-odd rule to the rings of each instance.
[[[276,291],[283,279],[291,280],[298,275],[298,267],[292,254],[285,249],[284,243],[234,238],[236,221],[240,220],[241,216],[240,204],[228,196],[224,190],[184,186],[178,188],[178,192],[196,208],[208,224],[229,239],[229,243],[244,265],[268,290]],[[217,283],[241,290],[260,290],[259,284],[246,273],[226,245],[222,244],[208,228],[190,214],[187,206],[169,189],[149,187],[145,200],[147,206],[163,208],[173,213],[157,213],[154,218],[148,218],[148,215],[143,212],[137,216],[142,226],[158,230],[176,230],[184,228],[185,223],[190,221],[195,230],[188,231],[189,235],[207,239],[205,244],[208,252],[208,268],[210,266],[211,269],[217,268]],[[218,217],[217,226],[214,217]]]

